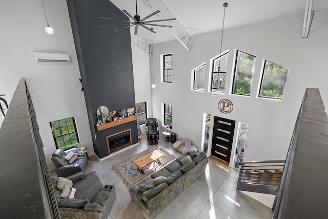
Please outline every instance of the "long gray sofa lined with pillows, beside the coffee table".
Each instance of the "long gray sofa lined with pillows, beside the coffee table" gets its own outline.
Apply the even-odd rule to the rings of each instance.
[[[186,163],[186,157],[191,161]],[[208,161],[205,152],[197,155],[196,152],[190,151],[178,157],[131,187],[131,200],[146,218],[153,218],[205,171]],[[158,180],[161,181],[159,185]],[[145,188],[148,190],[144,191]]]

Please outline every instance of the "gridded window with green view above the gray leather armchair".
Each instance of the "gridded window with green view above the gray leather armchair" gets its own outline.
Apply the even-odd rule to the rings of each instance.
[[[79,142],[74,117],[50,122],[57,149],[67,150]]]

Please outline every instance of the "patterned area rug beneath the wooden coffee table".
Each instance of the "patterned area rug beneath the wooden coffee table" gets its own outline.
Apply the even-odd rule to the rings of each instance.
[[[162,154],[164,154],[163,157],[159,158],[160,165],[156,162],[148,165],[144,168],[145,174],[142,174],[139,170],[137,165],[133,163],[133,161],[137,160],[140,157],[143,157],[155,150],[159,150]],[[128,158],[125,161],[122,161],[112,167],[112,170],[116,172],[118,177],[125,183],[125,185],[130,188],[146,176],[152,174],[156,170],[160,169],[162,166],[166,165],[170,161],[172,161],[176,156],[173,154],[170,154],[168,151],[160,148],[160,147],[151,147],[145,151],[142,151],[141,153],[138,153],[130,158]]]

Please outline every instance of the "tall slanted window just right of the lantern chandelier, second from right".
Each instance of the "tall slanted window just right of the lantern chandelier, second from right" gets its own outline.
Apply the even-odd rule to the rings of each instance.
[[[251,94],[252,79],[256,57],[237,51],[235,73],[232,85],[232,93],[247,95]]]

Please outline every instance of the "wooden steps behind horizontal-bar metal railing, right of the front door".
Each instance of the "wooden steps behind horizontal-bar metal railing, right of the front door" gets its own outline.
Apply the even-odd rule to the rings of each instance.
[[[275,195],[285,161],[242,162],[237,190]]]

